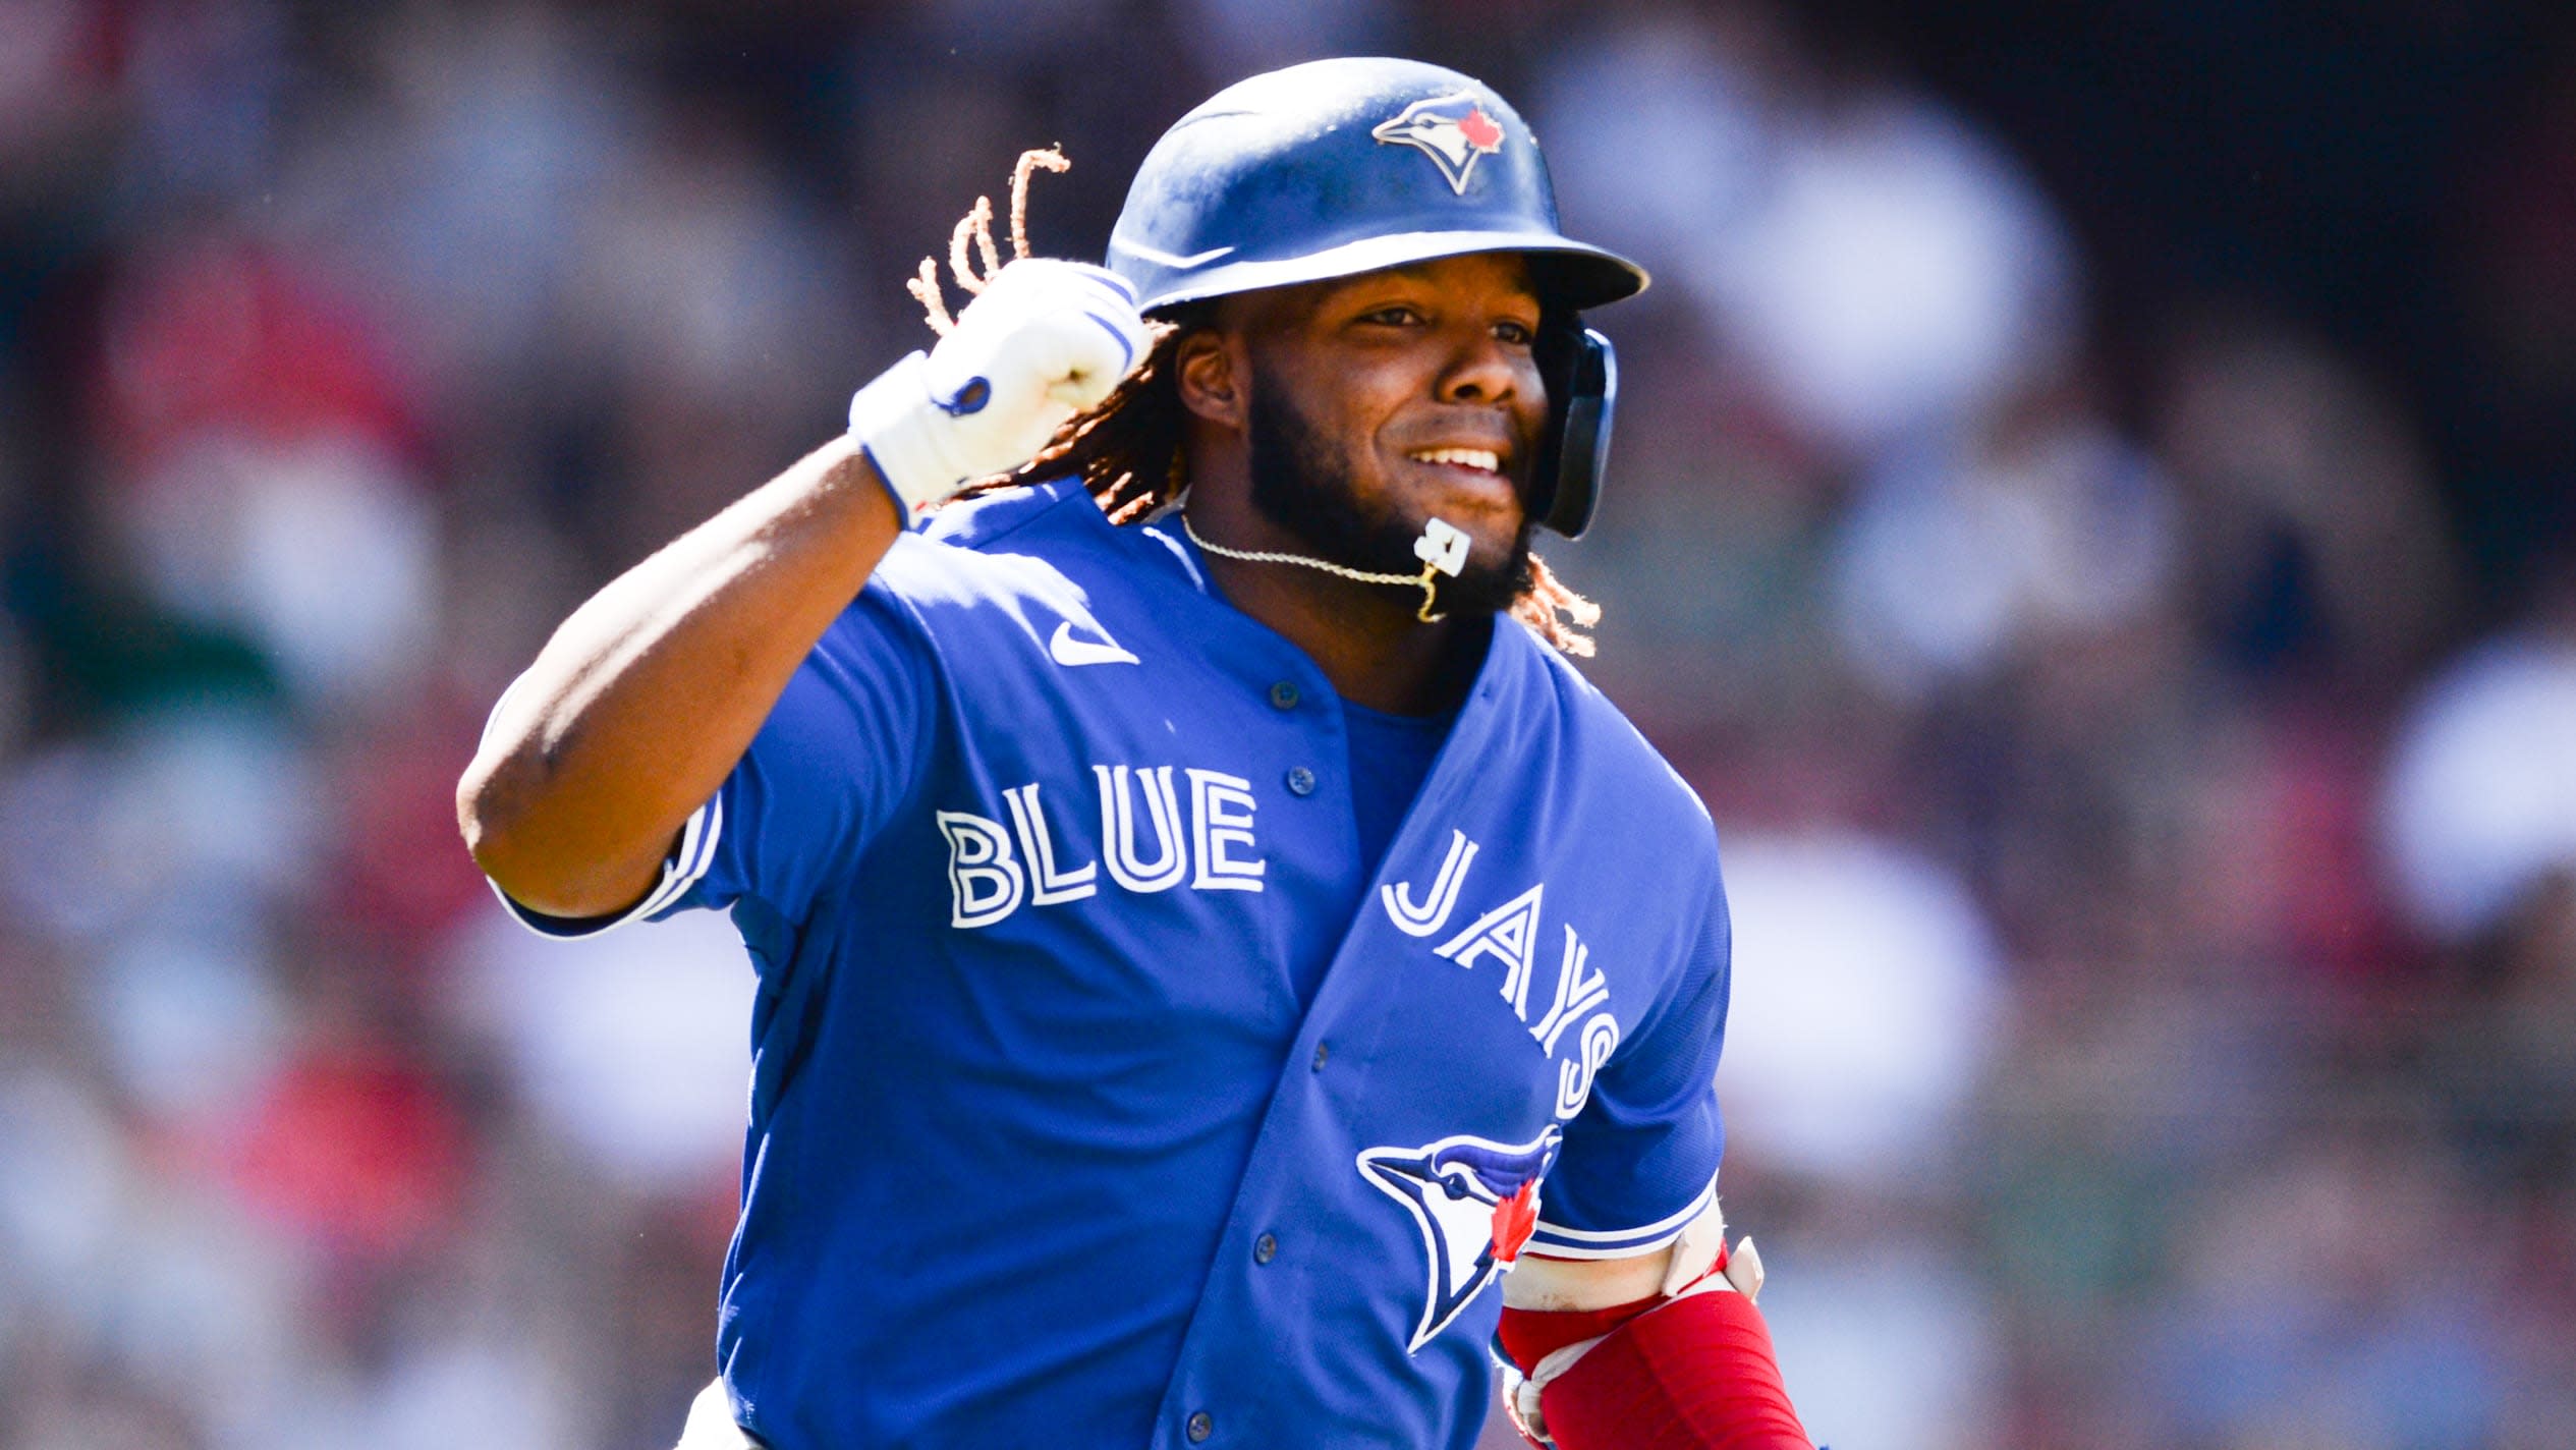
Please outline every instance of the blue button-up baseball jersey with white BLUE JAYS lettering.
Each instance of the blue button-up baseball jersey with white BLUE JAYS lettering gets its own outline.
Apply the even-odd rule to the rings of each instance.
[[[634,912],[760,974],[747,1429],[1466,1447],[1507,1259],[1710,1203],[1698,798],[1497,621],[1363,865],[1350,719],[1172,523],[1051,484],[896,541]]]

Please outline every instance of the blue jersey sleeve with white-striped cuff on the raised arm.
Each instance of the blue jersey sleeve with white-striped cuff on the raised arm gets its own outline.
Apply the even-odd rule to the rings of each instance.
[[[757,899],[804,922],[917,786],[933,742],[927,646],[868,585],[806,654],[724,786],[680,827],[654,889],[613,917],[502,904],[549,937],[590,937],[690,907]],[[500,891],[495,886],[495,891]]]

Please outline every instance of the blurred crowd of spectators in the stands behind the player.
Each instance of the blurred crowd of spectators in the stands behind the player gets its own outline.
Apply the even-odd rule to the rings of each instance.
[[[750,976],[510,927],[482,713],[1334,52],[1656,270],[1548,559],[1811,1429],[2576,1445],[2576,18],[2432,0],[0,0],[0,1445],[670,1442]]]

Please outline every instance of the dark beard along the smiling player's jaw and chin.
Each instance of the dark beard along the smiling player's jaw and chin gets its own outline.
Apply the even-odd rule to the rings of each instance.
[[[1249,415],[1252,510],[1298,536],[1319,556],[1370,574],[1419,574],[1414,541],[1422,525],[1370,507],[1350,479],[1350,469],[1278,389],[1252,389]],[[1479,561],[1443,574],[1432,610],[1450,616],[1492,616],[1530,592],[1530,528],[1522,518],[1502,559]]]

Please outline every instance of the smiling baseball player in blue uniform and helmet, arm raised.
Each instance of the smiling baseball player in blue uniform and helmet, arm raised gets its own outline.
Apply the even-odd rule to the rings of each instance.
[[[938,345],[459,786],[531,927],[757,968],[688,1442],[1466,1447],[1499,1360],[1540,1442],[1806,1447],[1716,1210],[1716,837],[1530,556],[1646,276],[1394,59],[1185,116],[1108,268],[1018,252],[961,227]]]

